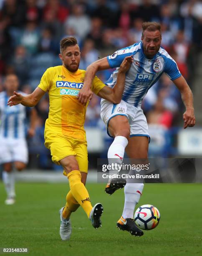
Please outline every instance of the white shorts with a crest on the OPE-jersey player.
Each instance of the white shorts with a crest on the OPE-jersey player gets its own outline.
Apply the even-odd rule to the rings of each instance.
[[[113,104],[108,100],[102,99],[100,115],[101,119],[106,125],[107,134],[110,137],[112,136],[108,129],[109,120],[116,115],[124,115],[129,120],[129,125],[131,128],[130,137],[145,136],[148,137],[150,141],[146,117],[141,108],[136,108],[124,100],[121,100],[119,104]]]

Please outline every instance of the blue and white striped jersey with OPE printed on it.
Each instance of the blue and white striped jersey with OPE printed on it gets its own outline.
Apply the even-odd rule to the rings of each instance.
[[[130,55],[133,55],[134,62],[126,73],[122,100],[135,107],[141,106],[141,101],[149,88],[158,81],[164,72],[171,80],[181,76],[176,62],[169,56],[167,51],[160,47],[153,59],[147,59],[143,52],[142,42],[139,42],[120,49],[111,56],[107,56],[110,67],[116,67],[116,70],[106,82],[107,86],[114,87],[121,62],[126,56]]]

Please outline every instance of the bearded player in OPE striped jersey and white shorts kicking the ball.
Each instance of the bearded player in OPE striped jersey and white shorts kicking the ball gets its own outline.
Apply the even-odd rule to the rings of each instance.
[[[111,56],[95,61],[88,66],[85,82],[78,100],[86,104],[91,98],[91,82],[96,72],[103,69],[116,68],[106,85],[113,88],[116,83],[117,72],[124,57],[133,55],[133,64],[126,74],[125,88],[119,104],[108,100],[101,100],[101,118],[104,121],[109,136],[114,137],[114,142],[109,147],[109,163],[115,161],[122,163],[124,151],[131,159],[145,159],[149,146],[149,132],[146,118],[141,109],[141,101],[149,88],[158,81],[165,72],[179,89],[186,111],[183,114],[184,128],[195,124],[192,92],[180,74],[176,62],[161,47],[161,26],[156,22],[145,22],[141,42],[116,51]],[[116,160],[114,160],[116,159]],[[116,184],[117,180],[109,180],[105,192],[110,195],[123,187]],[[141,236],[143,232],[134,223],[134,208],[139,202],[144,184],[127,183],[124,187],[125,204],[123,214],[117,223],[122,230],[129,231],[134,236]]]

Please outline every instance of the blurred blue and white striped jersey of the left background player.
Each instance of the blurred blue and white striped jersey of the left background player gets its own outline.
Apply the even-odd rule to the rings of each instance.
[[[0,92],[0,138],[25,138],[27,107],[21,104],[10,107],[7,105],[8,99],[5,91]]]

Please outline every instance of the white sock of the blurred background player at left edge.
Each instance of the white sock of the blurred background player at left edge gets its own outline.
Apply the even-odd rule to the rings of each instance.
[[[14,172],[5,172],[2,173],[3,183],[5,184],[5,190],[7,197],[15,197],[15,174]]]

